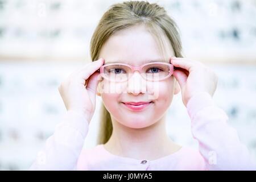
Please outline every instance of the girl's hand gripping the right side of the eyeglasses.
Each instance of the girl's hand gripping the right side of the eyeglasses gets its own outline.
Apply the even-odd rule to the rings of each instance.
[[[185,106],[198,93],[207,92],[210,96],[213,96],[218,77],[210,68],[199,61],[181,57],[171,57],[170,63],[174,65],[172,75],[179,82],[182,101]]]

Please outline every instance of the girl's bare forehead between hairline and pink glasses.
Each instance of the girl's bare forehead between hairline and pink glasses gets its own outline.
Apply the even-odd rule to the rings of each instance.
[[[168,40],[166,45],[169,48],[166,48],[165,55],[162,55],[154,36],[146,27],[130,27],[110,36],[101,49],[100,57],[105,59],[105,64],[126,63],[137,66],[153,61],[168,63],[168,57],[173,55],[173,51],[167,42]]]

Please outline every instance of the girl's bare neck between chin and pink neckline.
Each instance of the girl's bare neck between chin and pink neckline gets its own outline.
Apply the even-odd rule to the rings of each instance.
[[[155,160],[180,149],[168,137],[164,118],[143,129],[126,127],[113,118],[112,124],[112,136],[104,146],[114,155]]]

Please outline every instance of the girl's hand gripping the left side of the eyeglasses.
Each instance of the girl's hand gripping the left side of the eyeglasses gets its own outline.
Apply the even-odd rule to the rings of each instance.
[[[61,82],[59,92],[66,109],[85,115],[88,123],[96,106],[96,91],[100,82],[100,69],[104,59],[93,61],[71,73]]]

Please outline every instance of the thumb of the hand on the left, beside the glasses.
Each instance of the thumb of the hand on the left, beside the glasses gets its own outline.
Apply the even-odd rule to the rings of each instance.
[[[93,75],[90,76],[88,80],[88,84],[86,85],[86,90],[88,90],[89,97],[92,101],[95,100],[98,82],[100,82],[100,73],[94,72]]]

